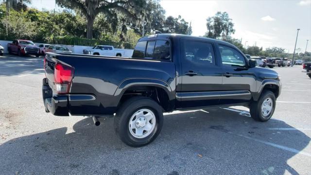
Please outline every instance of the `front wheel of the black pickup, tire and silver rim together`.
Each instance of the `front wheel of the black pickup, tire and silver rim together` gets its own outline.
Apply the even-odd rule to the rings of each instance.
[[[269,90],[262,91],[259,100],[253,101],[250,105],[249,112],[251,117],[256,121],[268,121],[276,109],[276,97]]]

